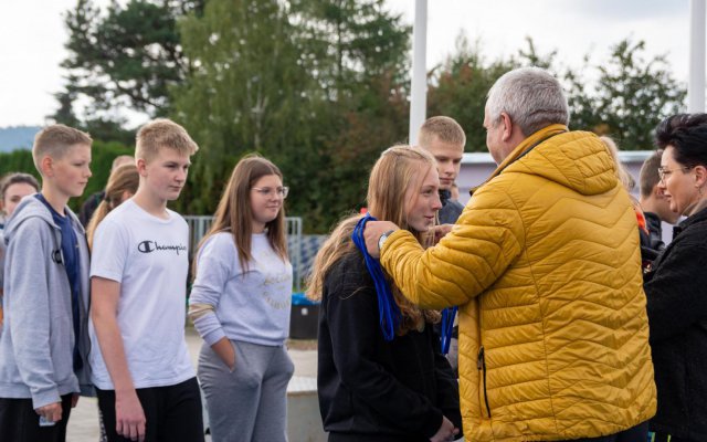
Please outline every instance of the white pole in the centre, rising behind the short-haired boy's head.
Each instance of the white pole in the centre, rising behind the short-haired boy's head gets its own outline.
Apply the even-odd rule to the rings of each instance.
[[[412,85],[410,96],[410,144],[418,144],[418,130],[424,123],[428,107],[428,0],[415,0],[415,23],[412,28]]]

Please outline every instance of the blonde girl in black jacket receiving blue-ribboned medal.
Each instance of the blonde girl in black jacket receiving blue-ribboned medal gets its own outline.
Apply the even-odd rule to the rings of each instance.
[[[437,190],[434,158],[392,147],[371,171],[369,212],[423,243],[441,208]],[[392,286],[389,305],[400,314],[386,334],[386,301],[379,301],[351,240],[361,218],[334,230],[317,254],[308,288],[309,297],[321,298],[317,382],[324,429],[333,442],[453,440],[461,428],[458,389],[433,327],[440,313],[418,308]]]

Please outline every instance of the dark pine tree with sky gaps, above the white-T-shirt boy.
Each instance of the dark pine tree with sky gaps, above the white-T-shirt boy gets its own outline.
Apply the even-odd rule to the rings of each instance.
[[[78,0],[66,13],[68,56],[66,90],[57,94],[52,117],[73,123],[77,98],[87,98],[80,115],[83,128],[125,140],[126,120],[116,109],[149,116],[169,113],[169,86],[180,83],[191,66],[183,56],[177,19],[199,12],[204,0],[112,1],[105,10],[94,0]],[[81,119],[81,118],[80,118]]]

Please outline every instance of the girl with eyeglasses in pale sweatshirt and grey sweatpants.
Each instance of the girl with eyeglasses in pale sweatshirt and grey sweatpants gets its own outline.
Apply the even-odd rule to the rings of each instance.
[[[214,442],[286,441],[287,190],[271,161],[243,158],[199,246],[189,316],[204,339],[198,376]]]

